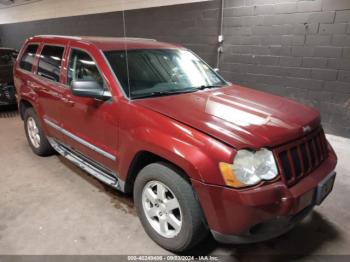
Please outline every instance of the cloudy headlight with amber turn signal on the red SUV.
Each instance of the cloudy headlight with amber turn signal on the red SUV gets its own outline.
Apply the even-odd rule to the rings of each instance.
[[[220,163],[225,183],[232,187],[252,186],[278,175],[275,158],[270,150],[239,150],[233,164]]]

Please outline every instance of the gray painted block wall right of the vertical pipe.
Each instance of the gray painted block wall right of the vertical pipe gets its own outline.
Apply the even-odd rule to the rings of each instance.
[[[350,0],[228,1],[224,21],[226,78],[315,106],[350,137]]]

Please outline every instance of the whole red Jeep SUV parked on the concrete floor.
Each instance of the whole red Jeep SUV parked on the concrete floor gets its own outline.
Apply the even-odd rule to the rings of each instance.
[[[332,190],[337,158],[316,110],[228,83],[184,47],[36,36],[14,82],[34,153],[57,151],[133,192],[166,249],[210,232],[226,243],[276,237]]]

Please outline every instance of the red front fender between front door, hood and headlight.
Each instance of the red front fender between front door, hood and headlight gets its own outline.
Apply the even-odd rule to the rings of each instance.
[[[123,102],[119,129],[118,175],[126,180],[141,151],[157,155],[181,168],[189,178],[225,185],[219,162],[230,163],[232,147],[175,119],[137,104]]]

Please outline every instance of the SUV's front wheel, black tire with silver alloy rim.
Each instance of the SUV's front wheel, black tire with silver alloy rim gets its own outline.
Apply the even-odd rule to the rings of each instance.
[[[162,187],[165,188],[165,194],[159,193]],[[165,196],[162,198],[164,201],[161,195]],[[154,196],[157,196],[156,200]],[[157,199],[161,201],[158,202],[158,207]],[[176,206],[174,199],[178,201],[179,208],[170,211],[167,206]],[[171,165],[154,163],[140,171],[134,184],[134,203],[146,233],[167,250],[189,250],[208,236],[209,230],[192,186]],[[156,213],[158,215],[154,215]],[[165,230],[162,230],[164,226],[161,226],[163,219],[166,220]],[[179,221],[181,223],[178,223]],[[178,228],[179,224],[181,225]]]

